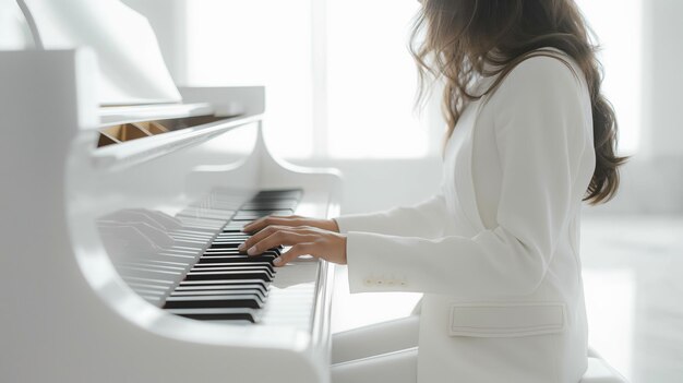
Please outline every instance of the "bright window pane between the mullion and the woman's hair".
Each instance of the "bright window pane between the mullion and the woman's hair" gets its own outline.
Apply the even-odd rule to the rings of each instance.
[[[429,132],[414,113],[417,70],[407,49],[420,4],[329,0],[327,7],[329,155],[426,156]]]

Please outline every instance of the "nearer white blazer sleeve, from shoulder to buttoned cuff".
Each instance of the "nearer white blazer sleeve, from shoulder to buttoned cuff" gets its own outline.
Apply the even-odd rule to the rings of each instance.
[[[520,63],[482,109],[494,113],[491,144],[501,160],[498,226],[474,238],[431,240],[350,231],[351,291],[532,292],[592,173],[586,97],[583,82],[558,59]]]

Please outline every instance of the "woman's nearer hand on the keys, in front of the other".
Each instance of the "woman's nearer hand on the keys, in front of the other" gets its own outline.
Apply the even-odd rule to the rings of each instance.
[[[238,249],[247,250],[249,255],[257,255],[280,244],[290,246],[291,249],[273,261],[276,266],[283,266],[307,254],[333,263],[346,264],[346,236],[312,226],[267,226],[244,241]]]

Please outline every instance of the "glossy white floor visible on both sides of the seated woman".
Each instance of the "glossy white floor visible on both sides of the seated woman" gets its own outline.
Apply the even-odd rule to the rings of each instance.
[[[683,217],[585,217],[590,344],[633,383],[683,382]],[[407,316],[418,294],[348,294],[337,267],[332,330]]]

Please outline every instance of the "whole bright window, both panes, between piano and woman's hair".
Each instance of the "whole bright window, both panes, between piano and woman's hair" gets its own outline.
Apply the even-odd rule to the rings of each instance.
[[[414,115],[417,74],[407,50],[418,7],[189,1],[187,80],[266,85],[266,135],[283,157],[424,156],[429,132]]]

